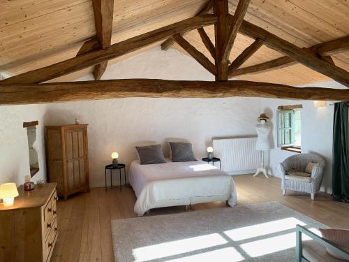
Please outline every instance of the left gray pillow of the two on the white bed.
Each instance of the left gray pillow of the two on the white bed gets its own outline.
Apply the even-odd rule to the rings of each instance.
[[[163,157],[161,145],[147,145],[145,147],[135,147],[140,156],[140,164],[147,165],[150,163],[166,163]]]

